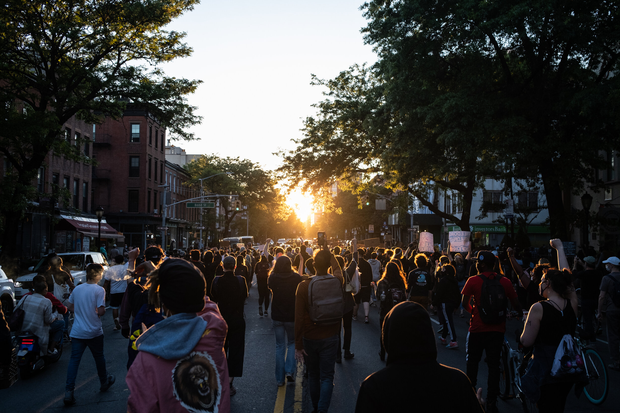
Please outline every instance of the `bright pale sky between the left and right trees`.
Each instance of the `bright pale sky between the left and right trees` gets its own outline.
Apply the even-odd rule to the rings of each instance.
[[[188,97],[203,116],[200,141],[173,143],[187,154],[241,157],[273,170],[273,152],[294,149],[303,119],[323,99],[311,74],[331,79],[354,63],[374,63],[360,28],[363,0],[203,0],[167,26],[187,32],[190,58],[161,67],[167,76],[203,80]]]

